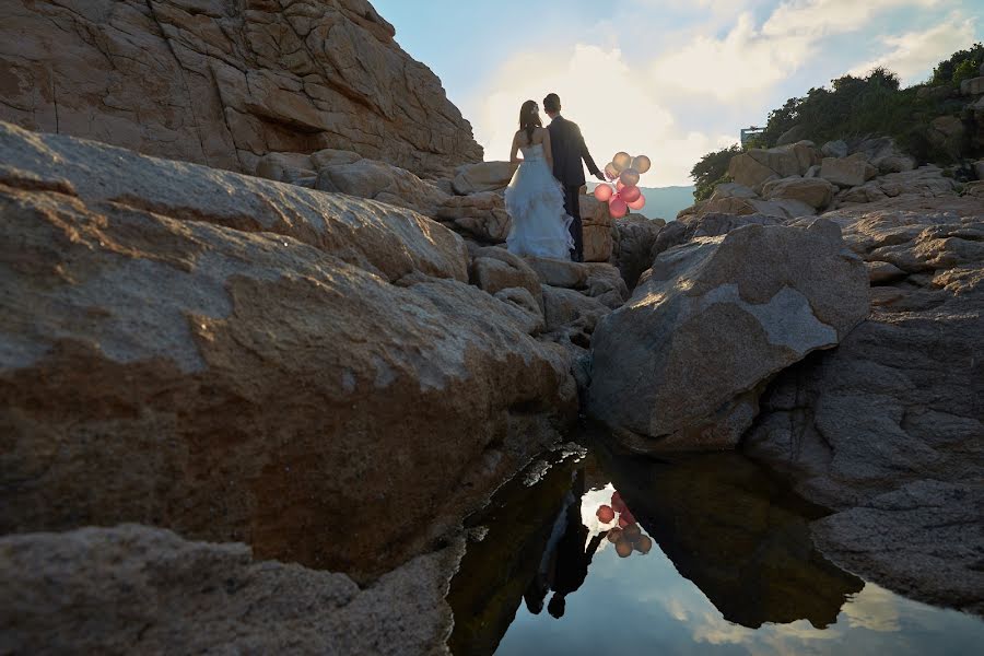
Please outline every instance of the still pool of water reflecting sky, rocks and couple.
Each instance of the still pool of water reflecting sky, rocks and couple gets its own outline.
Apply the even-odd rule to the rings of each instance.
[[[597,440],[469,522],[450,647],[485,654],[974,654],[984,622],[823,558],[827,511],[738,454],[654,461]]]

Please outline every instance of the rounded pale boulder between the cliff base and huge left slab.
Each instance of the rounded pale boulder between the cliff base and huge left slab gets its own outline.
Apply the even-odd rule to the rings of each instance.
[[[316,187],[321,191],[348,194],[409,208],[426,215],[433,215],[450,198],[405,168],[368,159],[321,165]]]

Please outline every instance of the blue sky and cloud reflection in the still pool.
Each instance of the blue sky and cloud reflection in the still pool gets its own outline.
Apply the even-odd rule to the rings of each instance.
[[[590,536],[610,526],[595,512],[612,491],[609,484],[582,497]],[[496,654],[971,654],[984,641],[980,620],[872,584],[824,630],[807,620],[747,629],[725,620],[658,544],[624,559],[610,546],[602,540],[564,617],[535,616],[520,605]]]

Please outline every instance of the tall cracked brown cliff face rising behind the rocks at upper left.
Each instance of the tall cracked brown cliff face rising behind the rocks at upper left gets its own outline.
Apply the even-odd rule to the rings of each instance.
[[[482,159],[365,0],[84,4],[5,8],[0,42],[17,48],[0,55],[0,120],[250,174],[268,153],[325,148],[418,175]]]

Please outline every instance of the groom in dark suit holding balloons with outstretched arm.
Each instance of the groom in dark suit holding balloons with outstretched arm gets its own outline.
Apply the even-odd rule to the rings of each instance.
[[[581,161],[587,164],[591,175],[602,183],[605,175],[598,169],[591,154],[584,144],[581,128],[560,115],[560,96],[555,93],[543,98],[543,110],[551,118],[550,149],[553,151],[553,177],[560,180],[564,187],[564,210],[574,218],[571,223],[571,236],[574,237],[574,250],[571,259],[575,262],[584,261],[584,229],[581,225],[581,188],[585,184],[584,167]]]

